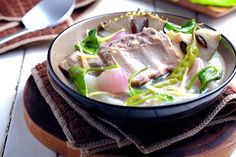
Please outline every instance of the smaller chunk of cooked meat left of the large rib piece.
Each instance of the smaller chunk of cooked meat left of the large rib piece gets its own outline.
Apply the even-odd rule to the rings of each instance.
[[[71,66],[74,65],[79,65],[82,67],[82,62],[80,56],[82,55],[81,52],[75,51],[72,53],[67,59],[63,60],[60,64],[59,67],[63,71],[68,71]],[[90,67],[101,67],[104,66],[102,60],[100,58],[88,58],[87,59],[88,64]]]

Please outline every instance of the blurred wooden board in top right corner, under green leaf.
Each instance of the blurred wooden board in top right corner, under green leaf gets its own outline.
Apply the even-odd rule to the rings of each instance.
[[[221,17],[227,15],[236,10],[235,7],[223,8],[223,7],[212,7],[212,6],[203,6],[191,3],[190,0],[168,0],[168,2],[177,4],[184,8],[194,10],[212,17]]]

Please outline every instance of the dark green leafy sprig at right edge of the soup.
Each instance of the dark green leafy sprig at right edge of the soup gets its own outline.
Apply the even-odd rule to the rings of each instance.
[[[215,66],[208,66],[193,76],[187,86],[187,89],[191,89],[194,82],[198,78],[201,82],[200,93],[203,93],[211,81],[220,80],[222,78],[222,73],[223,72],[217,69]]]

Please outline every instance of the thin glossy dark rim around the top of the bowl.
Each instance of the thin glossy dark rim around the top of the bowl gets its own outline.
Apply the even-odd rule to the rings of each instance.
[[[151,12],[155,12],[158,16],[165,16],[165,15],[168,15],[168,16],[173,16],[173,17],[178,17],[178,18],[182,18],[182,19],[185,19],[185,20],[190,20],[191,18],[188,18],[188,17],[184,17],[184,16],[181,16],[181,15],[174,15],[174,14],[171,14],[171,13],[164,13],[164,12],[156,12],[156,11],[151,11]],[[89,98],[89,97],[86,97],[86,96],[83,96],[81,94],[79,94],[78,92],[76,92],[75,90],[71,89],[70,87],[68,87],[63,81],[61,81],[61,79],[57,76],[57,74],[55,73],[55,71],[53,70],[53,67],[52,67],[52,64],[51,64],[51,49],[54,45],[54,43],[56,42],[56,40],[62,36],[63,33],[65,33],[68,29],[71,29],[72,27],[75,27],[76,25],[80,24],[80,23],[84,23],[84,22],[87,22],[87,21],[90,21],[90,20],[93,20],[93,19],[97,19],[97,18],[100,18],[100,17],[104,17],[104,16],[109,16],[109,15],[114,15],[114,14],[124,14],[126,12],[112,12],[112,13],[106,13],[106,14],[100,14],[100,15],[96,15],[96,16],[93,16],[93,17],[89,17],[89,18],[86,18],[86,19],[83,19],[83,20],[80,20],[76,23],[74,23],[73,25],[67,27],[66,29],[64,29],[62,32],[60,32],[55,38],[54,40],[51,42],[50,46],[49,46],[49,49],[48,49],[48,54],[47,54],[47,62],[48,62],[48,71],[49,71],[49,74],[51,74],[51,76],[53,77],[53,79],[58,83],[58,85],[61,87],[61,88],[64,88],[67,92],[72,92],[73,95],[78,95],[79,97],[83,97],[85,99],[89,99],[90,101],[93,101],[93,102],[96,102],[96,104],[99,104],[99,105],[103,105],[103,106],[107,106],[107,107],[114,107],[114,108],[125,108],[125,109],[142,109],[142,110],[152,110],[152,109],[157,109],[157,108],[171,108],[171,107],[176,107],[176,106],[184,106],[185,104],[189,104],[189,103],[193,103],[195,101],[198,101],[198,100],[202,100],[202,99],[205,99],[207,98],[208,96],[216,93],[217,91],[221,90],[222,88],[225,88],[225,86],[233,79],[233,77],[235,76],[236,74],[236,63],[234,65],[234,68],[231,72],[231,74],[229,75],[229,77],[223,82],[221,83],[220,86],[218,86],[217,88],[215,88],[214,90],[211,90],[209,92],[206,92],[196,98],[191,98],[191,99],[188,99],[188,100],[184,100],[184,101],[179,101],[179,102],[176,102],[176,103],[173,103],[173,102],[170,102],[170,103],[166,103],[165,105],[160,105],[160,106],[122,106],[122,105],[116,105],[116,104],[110,104],[110,103],[106,103],[106,102],[101,102],[101,101],[97,101],[95,99],[92,99],[92,98]],[[163,17],[161,17],[163,18]],[[208,26],[206,24],[203,24],[204,27],[206,28],[210,28],[212,30],[216,30],[214,28],[212,28],[211,26]],[[224,40],[226,40],[226,42],[230,45],[230,47],[233,49],[233,52],[235,54],[235,58],[236,58],[236,48],[234,47],[234,45],[232,44],[232,42],[226,38],[223,34],[221,34],[221,37],[224,38]],[[74,100],[74,98],[72,98]]]

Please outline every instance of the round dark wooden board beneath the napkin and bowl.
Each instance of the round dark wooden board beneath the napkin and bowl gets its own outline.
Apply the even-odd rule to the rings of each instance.
[[[66,137],[32,76],[24,89],[24,117],[32,134],[48,148],[65,157],[79,156],[80,150],[66,144]],[[236,122],[209,128],[150,156],[228,157],[236,148]],[[127,153],[128,152],[128,153]],[[93,157],[142,156],[134,147],[117,149]]]

